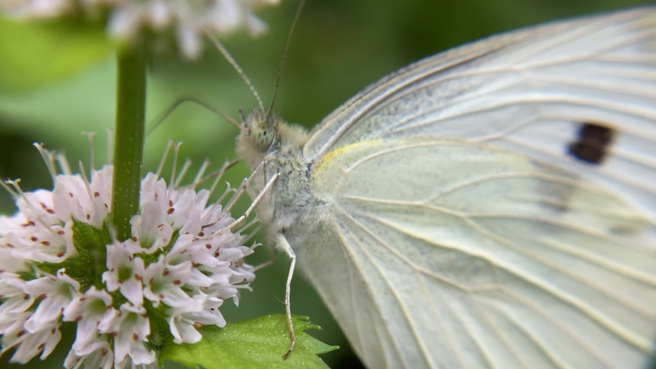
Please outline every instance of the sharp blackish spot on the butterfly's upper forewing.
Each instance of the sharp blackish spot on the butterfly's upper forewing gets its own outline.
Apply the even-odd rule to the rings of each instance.
[[[600,123],[584,122],[576,140],[567,147],[567,153],[582,162],[600,164],[608,156],[613,139],[613,129]]]

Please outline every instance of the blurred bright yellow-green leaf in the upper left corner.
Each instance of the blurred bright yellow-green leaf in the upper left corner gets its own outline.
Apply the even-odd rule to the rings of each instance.
[[[40,87],[104,59],[112,50],[102,24],[0,17],[0,89]]]

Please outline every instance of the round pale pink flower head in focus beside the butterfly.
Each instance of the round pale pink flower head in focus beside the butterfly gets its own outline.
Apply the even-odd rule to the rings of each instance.
[[[0,217],[0,354],[43,359],[62,322],[73,322],[66,368],[157,368],[154,347],[165,336],[195,343],[199,326],[226,324],[218,308],[249,288],[255,274],[243,258],[253,250],[230,231],[234,219],[220,205],[208,206],[210,190],[146,175],[132,237],[120,241],[108,221],[112,165],[73,175],[63,158],[37,147],[54,190],[5,186],[18,211]],[[54,174],[56,160],[63,174]]]

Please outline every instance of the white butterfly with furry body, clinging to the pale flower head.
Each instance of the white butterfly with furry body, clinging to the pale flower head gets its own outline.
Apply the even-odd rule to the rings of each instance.
[[[656,8],[438,54],[310,133],[255,110],[238,142],[369,368],[649,362]]]

